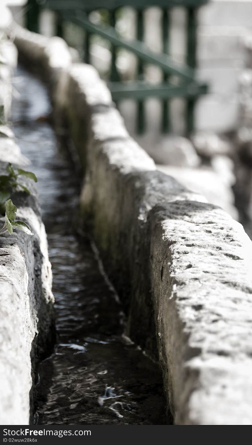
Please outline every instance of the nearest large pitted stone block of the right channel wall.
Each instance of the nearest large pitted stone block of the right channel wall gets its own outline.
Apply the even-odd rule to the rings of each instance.
[[[251,425],[251,241],[210,204],[149,213],[164,384],[179,425]]]

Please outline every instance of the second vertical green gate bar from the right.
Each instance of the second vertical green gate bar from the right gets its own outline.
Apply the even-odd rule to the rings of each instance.
[[[169,31],[170,31],[170,11],[163,9],[162,11],[162,30],[163,30],[163,53],[169,54]],[[169,76],[163,73],[163,81],[167,82]],[[162,114],[162,131],[167,133],[171,129],[170,122],[170,103],[167,99],[163,100]]]

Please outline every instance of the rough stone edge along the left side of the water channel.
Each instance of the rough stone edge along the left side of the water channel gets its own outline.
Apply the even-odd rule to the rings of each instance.
[[[11,41],[2,42],[6,65],[2,83],[5,117],[11,107],[11,76],[17,59]],[[27,165],[8,126],[6,137],[0,137],[0,171],[6,162]],[[4,159],[4,162],[2,161]],[[53,339],[52,272],[48,258],[45,227],[41,220],[36,186],[24,180],[30,196],[15,193],[12,201],[18,207],[17,218],[25,221],[33,236],[15,231],[0,236],[0,424],[28,425],[34,409],[34,385],[38,360]],[[0,216],[0,227],[4,218]],[[32,418],[31,418],[32,421]]]

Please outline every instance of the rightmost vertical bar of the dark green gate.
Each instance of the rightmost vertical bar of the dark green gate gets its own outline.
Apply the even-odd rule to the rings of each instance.
[[[187,65],[196,68],[196,8],[188,8],[187,10]],[[190,135],[194,129],[194,111],[195,98],[187,100],[187,135]]]

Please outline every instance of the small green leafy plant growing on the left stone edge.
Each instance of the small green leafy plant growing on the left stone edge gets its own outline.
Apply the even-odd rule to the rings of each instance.
[[[0,234],[7,231],[9,232],[9,234],[12,234],[13,227],[17,227],[28,235],[33,235],[27,224],[23,223],[22,221],[15,222],[17,209],[12,200],[9,198],[16,187],[21,187],[27,194],[30,194],[30,191],[27,187],[17,182],[18,176],[22,175],[26,178],[33,179],[34,182],[37,182],[37,177],[30,171],[26,171],[20,168],[14,169],[10,162],[6,167],[6,171],[8,175],[4,174],[0,176],[0,213],[4,214],[5,212],[5,223],[0,230]]]

